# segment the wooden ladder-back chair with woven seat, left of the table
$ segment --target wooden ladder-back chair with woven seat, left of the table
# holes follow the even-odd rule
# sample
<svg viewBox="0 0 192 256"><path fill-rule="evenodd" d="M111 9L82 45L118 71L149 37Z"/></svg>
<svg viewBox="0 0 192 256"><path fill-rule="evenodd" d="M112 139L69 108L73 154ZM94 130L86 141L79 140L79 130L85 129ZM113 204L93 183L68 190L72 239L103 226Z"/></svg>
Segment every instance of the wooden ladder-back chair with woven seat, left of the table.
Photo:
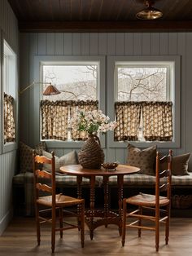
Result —
<svg viewBox="0 0 192 256"><path fill-rule="evenodd" d="M55 190L55 155L51 152L51 159L44 156L36 156L33 152L33 174L34 174L34 199L37 223L37 244L40 245L40 224L51 224L51 249L55 252L55 232L60 232L63 237L63 230L78 228L81 230L81 247L84 247L84 226L85 226L85 201L63 194L56 194ZM39 170L40 165L50 165L51 173L46 170ZM41 192L48 194L42 196ZM77 206L77 212L65 210L66 207ZM50 211L50 214L49 214ZM57 224L57 212L59 211L59 225ZM76 223L63 221L63 213L76 216ZM64 225L63 225L64 224ZM59 226L59 227L58 227Z"/></svg>

